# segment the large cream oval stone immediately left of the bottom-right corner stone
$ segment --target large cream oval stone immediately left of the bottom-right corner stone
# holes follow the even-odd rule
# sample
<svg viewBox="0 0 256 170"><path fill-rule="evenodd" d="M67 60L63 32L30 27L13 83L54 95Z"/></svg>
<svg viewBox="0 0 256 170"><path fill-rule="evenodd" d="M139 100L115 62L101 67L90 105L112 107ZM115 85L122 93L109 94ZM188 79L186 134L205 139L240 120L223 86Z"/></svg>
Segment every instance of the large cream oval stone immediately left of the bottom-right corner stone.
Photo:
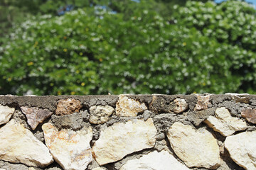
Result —
<svg viewBox="0 0 256 170"><path fill-rule="evenodd" d="M208 130L174 123L167 133L171 148L188 167L216 169L220 165L217 140Z"/></svg>

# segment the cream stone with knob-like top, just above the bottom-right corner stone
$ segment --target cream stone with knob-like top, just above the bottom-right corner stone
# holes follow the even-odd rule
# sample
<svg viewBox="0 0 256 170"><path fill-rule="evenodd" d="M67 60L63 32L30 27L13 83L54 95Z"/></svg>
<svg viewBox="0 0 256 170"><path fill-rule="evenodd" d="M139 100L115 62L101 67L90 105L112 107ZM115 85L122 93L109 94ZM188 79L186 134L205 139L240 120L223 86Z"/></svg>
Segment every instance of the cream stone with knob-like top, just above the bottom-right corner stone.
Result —
<svg viewBox="0 0 256 170"><path fill-rule="evenodd" d="M215 117L210 115L205 120L205 123L213 130L220 132L223 136L230 136L235 131L245 130L247 125L244 121L234 118L230 115L228 109L222 107L217 108L215 111Z"/></svg>

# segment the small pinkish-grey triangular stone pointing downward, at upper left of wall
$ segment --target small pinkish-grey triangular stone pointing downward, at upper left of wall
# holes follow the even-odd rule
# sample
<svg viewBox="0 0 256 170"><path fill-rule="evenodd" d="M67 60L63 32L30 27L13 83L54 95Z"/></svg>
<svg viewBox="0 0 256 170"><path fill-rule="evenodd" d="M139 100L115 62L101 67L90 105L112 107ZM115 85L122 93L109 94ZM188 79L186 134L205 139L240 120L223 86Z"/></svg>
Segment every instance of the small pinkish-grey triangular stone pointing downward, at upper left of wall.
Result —
<svg viewBox="0 0 256 170"><path fill-rule="evenodd" d="M21 111L26 115L28 125L30 125L33 130L36 129L39 123L42 123L43 120L46 120L46 118L49 118L50 115L53 114L53 112L48 111L47 109L36 107L29 108L22 106Z"/></svg>

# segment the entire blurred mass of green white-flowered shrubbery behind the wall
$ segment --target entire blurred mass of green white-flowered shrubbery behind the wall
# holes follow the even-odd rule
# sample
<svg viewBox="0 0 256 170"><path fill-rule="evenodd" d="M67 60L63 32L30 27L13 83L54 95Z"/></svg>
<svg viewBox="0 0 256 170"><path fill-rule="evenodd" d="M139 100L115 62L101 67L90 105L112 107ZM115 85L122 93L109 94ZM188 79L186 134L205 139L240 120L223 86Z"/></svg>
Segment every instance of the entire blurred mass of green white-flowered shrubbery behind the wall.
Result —
<svg viewBox="0 0 256 170"><path fill-rule="evenodd" d="M0 94L256 94L245 1L0 0Z"/></svg>

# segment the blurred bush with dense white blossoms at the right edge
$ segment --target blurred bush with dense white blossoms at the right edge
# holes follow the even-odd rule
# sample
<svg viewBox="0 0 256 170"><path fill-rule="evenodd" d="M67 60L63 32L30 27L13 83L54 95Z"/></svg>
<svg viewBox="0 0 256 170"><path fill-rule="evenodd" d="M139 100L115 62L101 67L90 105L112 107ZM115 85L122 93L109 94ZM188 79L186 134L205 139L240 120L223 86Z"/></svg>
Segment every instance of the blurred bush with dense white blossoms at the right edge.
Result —
<svg viewBox="0 0 256 170"><path fill-rule="evenodd" d="M241 1L226 1L220 5L190 1L178 9L174 18L178 25L196 28L203 36L220 44L215 50L228 62L226 67L230 72L230 82L225 88L233 84L236 86L233 91L255 93L255 8ZM221 58L213 55L218 60Z"/></svg>

